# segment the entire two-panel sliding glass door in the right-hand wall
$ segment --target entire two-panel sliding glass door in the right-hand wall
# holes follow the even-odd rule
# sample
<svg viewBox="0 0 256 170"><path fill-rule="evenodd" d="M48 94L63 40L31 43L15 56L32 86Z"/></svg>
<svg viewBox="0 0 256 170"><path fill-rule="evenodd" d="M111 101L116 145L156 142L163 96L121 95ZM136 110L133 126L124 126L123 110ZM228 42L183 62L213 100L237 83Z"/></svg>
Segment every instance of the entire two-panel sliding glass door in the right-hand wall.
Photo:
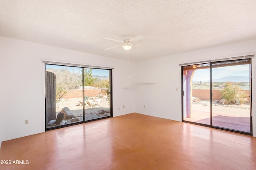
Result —
<svg viewBox="0 0 256 170"><path fill-rule="evenodd" d="M252 134L250 59L182 67L182 121Z"/></svg>

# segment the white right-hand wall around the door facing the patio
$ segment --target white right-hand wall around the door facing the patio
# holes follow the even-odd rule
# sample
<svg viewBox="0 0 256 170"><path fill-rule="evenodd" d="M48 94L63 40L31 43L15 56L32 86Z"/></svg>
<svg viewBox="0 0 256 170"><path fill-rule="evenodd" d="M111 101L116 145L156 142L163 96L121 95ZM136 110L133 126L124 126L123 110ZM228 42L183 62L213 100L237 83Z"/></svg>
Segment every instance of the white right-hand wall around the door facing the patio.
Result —
<svg viewBox="0 0 256 170"><path fill-rule="evenodd" d="M256 39L135 63L135 82L154 82L135 88L135 111L181 121L181 68L179 64L256 53ZM252 101L256 101L256 62L252 59ZM178 91L176 91L178 88ZM255 103L255 102L254 102ZM144 108L143 106L146 105ZM252 105L256 137L256 106Z"/></svg>

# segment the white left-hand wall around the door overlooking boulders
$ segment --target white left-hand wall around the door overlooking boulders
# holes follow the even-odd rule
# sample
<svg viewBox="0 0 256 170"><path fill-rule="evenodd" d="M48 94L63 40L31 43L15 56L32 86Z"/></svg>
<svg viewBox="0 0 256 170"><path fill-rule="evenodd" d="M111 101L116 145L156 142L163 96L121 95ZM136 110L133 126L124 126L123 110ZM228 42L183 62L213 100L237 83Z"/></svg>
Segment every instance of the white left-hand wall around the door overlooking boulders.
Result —
<svg viewBox="0 0 256 170"><path fill-rule="evenodd" d="M134 92L123 89L130 78L125 61L0 36L0 139L44 132L44 64L42 59L113 66L113 115L134 112ZM122 108L125 105L125 108ZM120 110L118 110L120 107ZM29 124L25 125L25 119ZM2 129L1 127L1 129Z"/></svg>

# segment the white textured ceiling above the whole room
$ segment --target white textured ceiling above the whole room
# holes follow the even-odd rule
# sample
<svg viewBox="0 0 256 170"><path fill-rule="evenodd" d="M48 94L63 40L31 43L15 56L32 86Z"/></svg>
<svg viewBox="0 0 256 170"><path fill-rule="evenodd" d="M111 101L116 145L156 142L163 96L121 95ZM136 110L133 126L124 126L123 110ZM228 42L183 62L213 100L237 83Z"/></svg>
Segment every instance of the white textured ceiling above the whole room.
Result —
<svg viewBox="0 0 256 170"><path fill-rule="evenodd" d="M256 0L0 0L0 35L130 61L256 38Z"/></svg>

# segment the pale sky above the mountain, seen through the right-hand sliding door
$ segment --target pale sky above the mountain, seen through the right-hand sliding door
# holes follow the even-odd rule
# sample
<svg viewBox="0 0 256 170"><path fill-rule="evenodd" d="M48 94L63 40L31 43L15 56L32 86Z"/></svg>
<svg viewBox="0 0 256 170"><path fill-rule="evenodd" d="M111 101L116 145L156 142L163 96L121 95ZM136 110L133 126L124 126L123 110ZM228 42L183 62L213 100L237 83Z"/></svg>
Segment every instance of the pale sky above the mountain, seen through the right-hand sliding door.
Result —
<svg viewBox="0 0 256 170"><path fill-rule="evenodd" d="M250 76L249 64L212 68L212 79L218 79L226 76ZM210 80L210 69L196 70L193 80Z"/></svg>

